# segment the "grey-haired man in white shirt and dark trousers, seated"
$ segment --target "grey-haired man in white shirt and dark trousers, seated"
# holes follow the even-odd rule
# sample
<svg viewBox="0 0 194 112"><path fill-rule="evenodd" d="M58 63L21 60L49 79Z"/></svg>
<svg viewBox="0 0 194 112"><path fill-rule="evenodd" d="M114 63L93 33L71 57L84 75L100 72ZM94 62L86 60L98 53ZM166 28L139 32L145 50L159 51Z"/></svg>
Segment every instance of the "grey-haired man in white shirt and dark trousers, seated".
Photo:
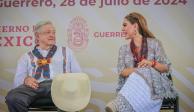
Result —
<svg viewBox="0 0 194 112"><path fill-rule="evenodd" d="M18 61L14 89L6 96L10 112L27 112L34 100L50 97L56 74L81 72L72 51L55 45L55 28L50 21L39 22L34 32L36 45Z"/></svg>

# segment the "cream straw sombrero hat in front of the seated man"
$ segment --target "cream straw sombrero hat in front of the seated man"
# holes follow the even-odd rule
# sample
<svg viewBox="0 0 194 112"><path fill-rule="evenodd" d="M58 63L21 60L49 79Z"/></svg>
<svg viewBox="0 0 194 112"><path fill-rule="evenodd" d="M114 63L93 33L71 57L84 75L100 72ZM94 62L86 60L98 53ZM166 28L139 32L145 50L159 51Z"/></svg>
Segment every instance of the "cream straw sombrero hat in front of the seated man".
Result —
<svg viewBox="0 0 194 112"><path fill-rule="evenodd" d="M57 74L51 85L54 104L63 111L79 111L90 100L91 85L84 73Z"/></svg>

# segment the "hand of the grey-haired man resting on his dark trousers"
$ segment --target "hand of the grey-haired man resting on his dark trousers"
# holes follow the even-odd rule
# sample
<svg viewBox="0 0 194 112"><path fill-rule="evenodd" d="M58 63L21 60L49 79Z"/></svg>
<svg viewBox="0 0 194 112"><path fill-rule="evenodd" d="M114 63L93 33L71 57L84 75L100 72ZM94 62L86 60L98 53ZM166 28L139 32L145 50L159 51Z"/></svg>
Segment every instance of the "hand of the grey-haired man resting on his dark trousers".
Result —
<svg viewBox="0 0 194 112"><path fill-rule="evenodd" d="M24 79L24 85L26 85L28 87L31 87L33 89L37 89L39 87L38 81L35 78L31 77L31 76L27 76Z"/></svg>

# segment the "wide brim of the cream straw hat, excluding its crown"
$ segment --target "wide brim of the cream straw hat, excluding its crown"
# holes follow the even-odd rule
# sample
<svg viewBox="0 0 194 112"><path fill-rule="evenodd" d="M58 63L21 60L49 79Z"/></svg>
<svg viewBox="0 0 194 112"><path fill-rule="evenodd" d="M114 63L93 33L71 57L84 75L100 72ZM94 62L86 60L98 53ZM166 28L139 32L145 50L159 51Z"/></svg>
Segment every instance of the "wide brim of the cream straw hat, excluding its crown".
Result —
<svg viewBox="0 0 194 112"><path fill-rule="evenodd" d="M80 91L83 94L80 94L76 97L68 97L68 95L63 93L62 89L64 88L61 88L65 80L72 80L72 83L74 81L82 80L80 83ZM81 87L81 85L84 87ZM54 104L63 111L82 110L88 105L91 96L91 85L89 77L84 73L57 74L51 85L51 96Z"/></svg>

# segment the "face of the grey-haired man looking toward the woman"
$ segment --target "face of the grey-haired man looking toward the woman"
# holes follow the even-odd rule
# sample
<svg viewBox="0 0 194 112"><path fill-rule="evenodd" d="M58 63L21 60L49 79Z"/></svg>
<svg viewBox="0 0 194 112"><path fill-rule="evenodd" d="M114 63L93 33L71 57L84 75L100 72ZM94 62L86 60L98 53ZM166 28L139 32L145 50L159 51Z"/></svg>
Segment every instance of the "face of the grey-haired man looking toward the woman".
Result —
<svg viewBox="0 0 194 112"><path fill-rule="evenodd" d="M40 46L54 45L55 40L55 28L51 24L43 25L40 31L36 34L36 39Z"/></svg>

